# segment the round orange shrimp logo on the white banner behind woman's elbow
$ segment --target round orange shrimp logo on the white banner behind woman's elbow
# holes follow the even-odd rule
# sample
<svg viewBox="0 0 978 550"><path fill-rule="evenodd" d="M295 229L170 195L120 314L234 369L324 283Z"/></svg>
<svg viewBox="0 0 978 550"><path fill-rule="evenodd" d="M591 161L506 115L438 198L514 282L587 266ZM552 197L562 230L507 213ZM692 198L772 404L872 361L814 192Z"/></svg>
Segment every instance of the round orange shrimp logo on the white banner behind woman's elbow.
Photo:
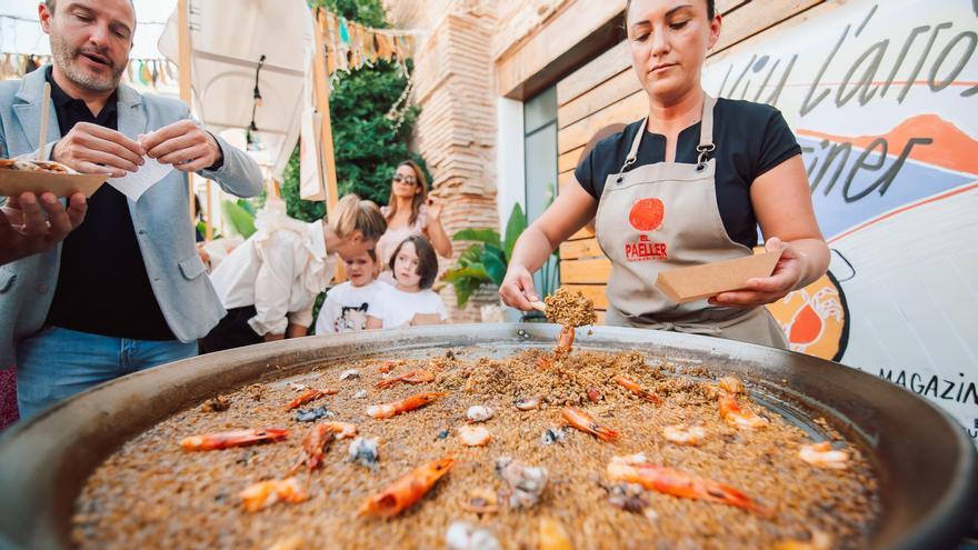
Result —
<svg viewBox="0 0 978 550"><path fill-rule="evenodd" d="M849 342L849 307L831 271L768 304L791 351L838 361Z"/></svg>

